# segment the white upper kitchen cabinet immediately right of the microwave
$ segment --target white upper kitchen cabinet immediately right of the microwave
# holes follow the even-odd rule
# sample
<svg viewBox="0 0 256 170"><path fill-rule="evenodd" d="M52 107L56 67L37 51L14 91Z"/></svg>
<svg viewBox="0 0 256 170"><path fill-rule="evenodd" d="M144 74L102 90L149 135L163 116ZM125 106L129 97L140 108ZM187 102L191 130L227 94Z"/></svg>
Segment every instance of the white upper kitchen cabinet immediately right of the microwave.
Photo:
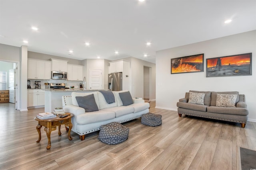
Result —
<svg viewBox="0 0 256 170"><path fill-rule="evenodd" d="M83 66L68 64L68 80L83 81Z"/></svg>

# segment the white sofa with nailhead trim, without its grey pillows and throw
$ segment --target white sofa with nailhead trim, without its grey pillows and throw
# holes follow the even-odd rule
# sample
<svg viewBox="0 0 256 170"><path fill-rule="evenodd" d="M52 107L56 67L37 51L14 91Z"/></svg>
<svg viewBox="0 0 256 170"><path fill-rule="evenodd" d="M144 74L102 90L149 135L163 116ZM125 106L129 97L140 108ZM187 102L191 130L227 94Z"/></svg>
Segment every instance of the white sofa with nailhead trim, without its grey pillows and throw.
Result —
<svg viewBox="0 0 256 170"><path fill-rule="evenodd" d="M145 103L142 99L133 98L133 104L123 106L119 96L120 92L128 92L128 90L113 92L115 102L112 104L106 102L101 92L72 92L71 96L62 96L64 111L74 114L71 119L73 124L71 130L80 135L81 141L84 140L86 134L100 130L101 125L106 125L110 122L123 123L149 112L149 103ZM85 112L84 108L78 106L76 96L87 96L90 94L94 94L98 111Z"/></svg>

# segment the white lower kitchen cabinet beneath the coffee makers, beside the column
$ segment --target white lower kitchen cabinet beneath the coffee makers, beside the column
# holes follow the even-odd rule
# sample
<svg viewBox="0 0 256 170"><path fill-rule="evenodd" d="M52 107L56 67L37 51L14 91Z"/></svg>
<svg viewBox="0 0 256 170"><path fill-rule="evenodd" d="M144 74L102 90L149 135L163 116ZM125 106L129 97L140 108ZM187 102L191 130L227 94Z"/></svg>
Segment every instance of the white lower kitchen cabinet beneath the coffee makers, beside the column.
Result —
<svg viewBox="0 0 256 170"><path fill-rule="evenodd" d="M28 90L28 107L44 106L44 90Z"/></svg>

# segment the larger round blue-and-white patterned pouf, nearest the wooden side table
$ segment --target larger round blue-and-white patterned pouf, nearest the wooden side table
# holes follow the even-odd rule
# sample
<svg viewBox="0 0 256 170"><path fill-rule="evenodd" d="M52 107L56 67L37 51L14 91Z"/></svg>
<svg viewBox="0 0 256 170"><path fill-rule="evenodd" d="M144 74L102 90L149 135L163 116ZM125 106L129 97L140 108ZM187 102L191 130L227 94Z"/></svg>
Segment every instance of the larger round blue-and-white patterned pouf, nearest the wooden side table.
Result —
<svg viewBox="0 0 256 170"><path fill-rule="evenodd" d="M103 143L115 145L128 138L129 128L118 122L111 122L100 127L98 139Z"/></svg>

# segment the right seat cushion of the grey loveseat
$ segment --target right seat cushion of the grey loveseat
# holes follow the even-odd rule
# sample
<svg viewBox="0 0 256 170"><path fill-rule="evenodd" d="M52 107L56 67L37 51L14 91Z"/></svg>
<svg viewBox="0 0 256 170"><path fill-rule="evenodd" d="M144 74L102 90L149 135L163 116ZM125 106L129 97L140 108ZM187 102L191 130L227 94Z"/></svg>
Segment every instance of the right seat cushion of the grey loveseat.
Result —
<svg viewBox="0 0 256 170"><path fill-rule="evenodd" d="M221 113L221 114L232 114L232 115L248 115L248 110L242 107L207 107L207 112Z"/></svg>

